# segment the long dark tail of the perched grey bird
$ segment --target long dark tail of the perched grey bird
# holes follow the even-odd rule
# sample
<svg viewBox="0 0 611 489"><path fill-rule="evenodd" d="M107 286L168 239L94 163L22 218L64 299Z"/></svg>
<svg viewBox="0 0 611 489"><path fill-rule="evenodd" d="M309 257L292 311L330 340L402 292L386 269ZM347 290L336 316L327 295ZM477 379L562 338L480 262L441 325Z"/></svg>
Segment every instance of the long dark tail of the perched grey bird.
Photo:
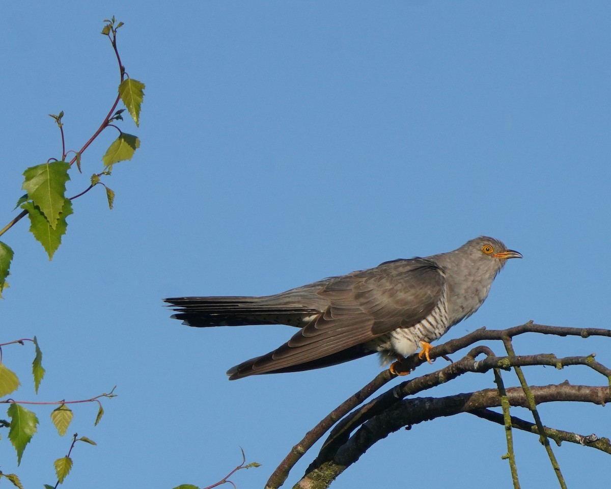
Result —
<svg viewBox="0 0 611 489"><path fill-rule="evenodd" d="M164 299L174 309L172 318L188 326L290 325L320 314L297 304L277 304L270 297L172 297ZM271 303L272 302L272 303Z"/></svg>

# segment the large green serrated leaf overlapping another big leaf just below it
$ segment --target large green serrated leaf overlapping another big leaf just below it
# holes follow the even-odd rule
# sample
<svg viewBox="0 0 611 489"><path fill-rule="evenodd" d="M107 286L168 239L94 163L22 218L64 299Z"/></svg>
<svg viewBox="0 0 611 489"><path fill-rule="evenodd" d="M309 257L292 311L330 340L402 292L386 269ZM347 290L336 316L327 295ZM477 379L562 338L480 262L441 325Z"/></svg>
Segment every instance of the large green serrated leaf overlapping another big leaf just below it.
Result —
<svg viewBox="0 0 611 489"><path fill-rule="evenodd" d="M69 169L70 164L65 161L54 161L29 167L23 172L26 180L22 188L43 213L51 229L56 228L66 202L64 194L66 182L70 180Z"/></svg>

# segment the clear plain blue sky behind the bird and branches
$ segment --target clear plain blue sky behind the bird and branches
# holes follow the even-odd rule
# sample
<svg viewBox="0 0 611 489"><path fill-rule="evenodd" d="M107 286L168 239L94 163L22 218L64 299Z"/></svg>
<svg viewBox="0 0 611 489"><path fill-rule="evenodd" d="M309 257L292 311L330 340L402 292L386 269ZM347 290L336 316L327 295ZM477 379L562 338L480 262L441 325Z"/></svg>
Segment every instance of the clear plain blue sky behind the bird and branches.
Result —
<svg viewBox="0 0 611 489"><path fill-rule="evenodd" d="M75 449L65 487L205 486L239 463L240 446L263 466L234 482L262 487L307 430L379 372L371 356L229 382L225 370L293 331L187 328L169 319L167 296L265 295L485 234L524 260L508 263L480 311L445 338L530 319L609 327L608 2L35 1L27 15L23 4L3 12L5 222L24 168L60 151L47 114L65 112L76 149L114 100L104 18L125 22L123 62L147 86L141 126L122 125L142 145L108 180L114 210L103 189L75 200L50 263L26 221L2 237L15 259L1 340L36 335L47 369L35 396L33 352L3 348L23 377L14 397L85 399L117 384L98 427L95 406L75 408L69 433L98 446ZM69 194L100 171L114 138L84 153ZM595 351L611 364L608 339L529 336L516 348ZM604 381L584 367L525 373L533 384ZM490 386L492 375L465 376L436 395ZM48 411L37 410L20 468L0 443L2 471L26 487L54 483L53 460L70 444ZM546 405L541 416L611 434L600 406ZM515 438L522 484L554 487L536 437ZM602 452L555 452L569 487L584 472L592 485L611 477ZM504 453L502 428L464 414L389 436L333 487L469 487L473 474L511 487Z"/></svg>

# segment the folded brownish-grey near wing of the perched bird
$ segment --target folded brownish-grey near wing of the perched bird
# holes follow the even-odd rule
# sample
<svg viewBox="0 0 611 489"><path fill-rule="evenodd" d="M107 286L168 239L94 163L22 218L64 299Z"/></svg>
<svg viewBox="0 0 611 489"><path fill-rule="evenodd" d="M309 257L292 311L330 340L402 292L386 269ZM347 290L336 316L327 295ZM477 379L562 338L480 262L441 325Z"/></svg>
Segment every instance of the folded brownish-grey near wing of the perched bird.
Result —
<svg viewBox="0 0 611 489"><path fill-rule="evenodd" d="M444 273L426 259L397 260L338 277L318 290L329 306L287 343L243 362L232 378L284 370L329 357L337 363L345 350L359 350L371 339L422 321L441 300ZM352 356L354 357L354 355ZM351 358L342 358L346 361ZM324 366L324 360L316 362ZM295 370L299 370L295 368Z"/></svg>

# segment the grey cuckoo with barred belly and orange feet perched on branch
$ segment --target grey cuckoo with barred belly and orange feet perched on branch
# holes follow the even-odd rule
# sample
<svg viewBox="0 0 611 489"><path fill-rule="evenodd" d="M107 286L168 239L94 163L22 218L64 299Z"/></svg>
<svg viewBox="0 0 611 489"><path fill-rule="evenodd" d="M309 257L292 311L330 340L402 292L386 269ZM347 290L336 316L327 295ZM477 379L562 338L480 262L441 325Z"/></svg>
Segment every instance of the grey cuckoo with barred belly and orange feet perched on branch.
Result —
<svg viewBox="0 0 611 489"><path fill-rule="evenodd" d="M197 328L288 325L288 342L227 371L229 380L318 369L379 353L397 362L472 315L508 259L522 258L502 241L480 236L428 257L397 259L268 296L174 297L172 318Z"/></svg>

